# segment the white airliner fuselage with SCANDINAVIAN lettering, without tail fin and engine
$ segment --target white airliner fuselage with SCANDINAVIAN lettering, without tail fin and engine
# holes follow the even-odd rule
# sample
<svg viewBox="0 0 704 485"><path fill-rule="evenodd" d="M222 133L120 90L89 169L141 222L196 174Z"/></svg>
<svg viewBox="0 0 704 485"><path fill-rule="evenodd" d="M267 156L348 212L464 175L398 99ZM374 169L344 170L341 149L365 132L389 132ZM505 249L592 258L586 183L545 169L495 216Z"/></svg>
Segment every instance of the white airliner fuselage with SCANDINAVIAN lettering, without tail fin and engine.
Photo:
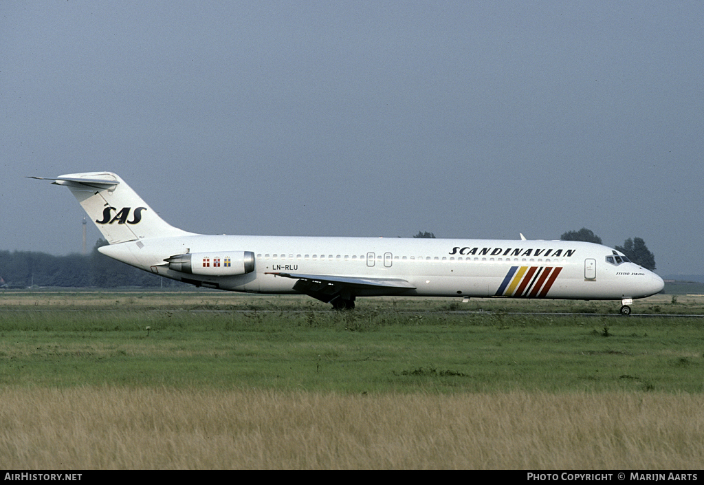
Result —
<svg viewBox="0 0 704 485"><path fill-rule="evenodd" d="M415 287L358 290L356 296L623 300L658 293L663 286L659 276L634 263L609 264L606 258L613 250L608 247L561 240L189 235L99 250L168 278L253 293L298 293L294 280L275 273L401 278ZM214 259L242 250L254 254L254 270L247 274L184 275L164 265L175 254L208 254Z"/></svg>

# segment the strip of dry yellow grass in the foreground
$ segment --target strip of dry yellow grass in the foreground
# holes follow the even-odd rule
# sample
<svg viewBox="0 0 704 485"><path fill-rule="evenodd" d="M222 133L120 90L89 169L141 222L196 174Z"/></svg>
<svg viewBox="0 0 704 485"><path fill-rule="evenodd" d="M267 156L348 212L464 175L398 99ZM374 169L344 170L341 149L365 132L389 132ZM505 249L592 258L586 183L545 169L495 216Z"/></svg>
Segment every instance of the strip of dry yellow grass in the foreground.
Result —
<svg viewBox="0 0 704 485"><path fill-rule="evenodd" d="M699 395L5 388L6 469L700 469Z"/></svg>

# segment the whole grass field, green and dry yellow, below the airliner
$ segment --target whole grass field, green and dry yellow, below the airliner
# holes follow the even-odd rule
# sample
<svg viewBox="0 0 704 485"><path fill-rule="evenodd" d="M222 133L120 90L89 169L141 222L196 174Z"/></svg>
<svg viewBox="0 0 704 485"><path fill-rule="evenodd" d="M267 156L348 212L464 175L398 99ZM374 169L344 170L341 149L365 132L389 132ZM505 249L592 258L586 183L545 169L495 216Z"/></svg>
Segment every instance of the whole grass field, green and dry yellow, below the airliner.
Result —
<svg viewBox="0 0 704 485"><path fill-rule="evenodd" d="M617 309L0 293L0 462L701 468L704 297Z"/></svg>

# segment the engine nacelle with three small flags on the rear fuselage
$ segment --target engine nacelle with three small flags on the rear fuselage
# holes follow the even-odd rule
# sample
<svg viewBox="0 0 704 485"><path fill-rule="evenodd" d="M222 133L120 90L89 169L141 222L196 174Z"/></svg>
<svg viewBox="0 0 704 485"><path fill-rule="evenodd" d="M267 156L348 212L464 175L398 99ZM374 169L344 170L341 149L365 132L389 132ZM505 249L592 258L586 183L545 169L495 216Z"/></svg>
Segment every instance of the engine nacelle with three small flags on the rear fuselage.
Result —
<svg viewBox="0 0 704 485"><path fill-rule="evenodd" d="M203 276L237 276L254 271L251 251L189 252L164 261L173 271Z"/></svg>

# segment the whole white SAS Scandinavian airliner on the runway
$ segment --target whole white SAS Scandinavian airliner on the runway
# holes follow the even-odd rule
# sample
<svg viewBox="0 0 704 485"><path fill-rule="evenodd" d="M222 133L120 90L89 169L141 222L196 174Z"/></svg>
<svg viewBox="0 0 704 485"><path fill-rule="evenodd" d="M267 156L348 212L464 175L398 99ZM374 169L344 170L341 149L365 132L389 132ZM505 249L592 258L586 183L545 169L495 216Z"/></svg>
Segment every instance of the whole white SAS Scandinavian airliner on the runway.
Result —
<svg viewBox="0 0 704 485"><path fill-rule="evenodd" d="M100 252L195 286L303 293L336 309L377 295L621 300L622 314L665 287L593 243L202 235L170 226L115 173L40 179L73 192L110 243Z"/></svg>

